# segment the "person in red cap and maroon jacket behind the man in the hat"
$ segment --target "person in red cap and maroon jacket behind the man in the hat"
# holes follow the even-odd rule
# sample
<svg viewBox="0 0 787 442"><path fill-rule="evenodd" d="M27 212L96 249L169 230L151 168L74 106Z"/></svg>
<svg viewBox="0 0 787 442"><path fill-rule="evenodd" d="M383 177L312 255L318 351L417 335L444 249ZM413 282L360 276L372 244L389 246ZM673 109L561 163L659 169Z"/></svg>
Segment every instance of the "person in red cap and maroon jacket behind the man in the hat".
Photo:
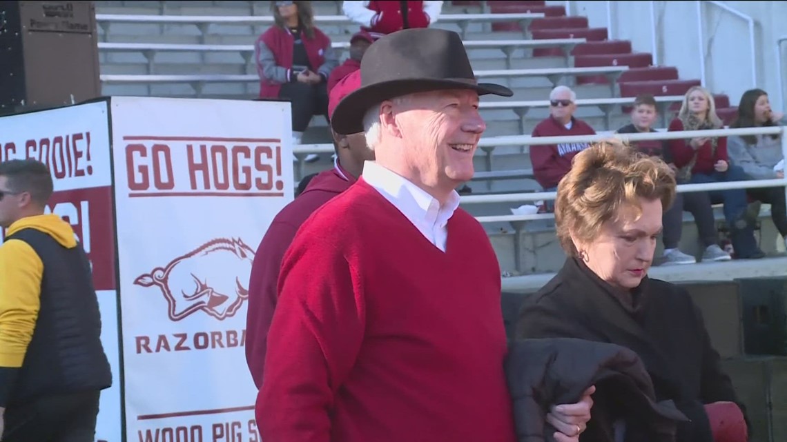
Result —
<svg viewBox="0 0 787 442"><path fill-rule="evenodd" d="M358 87L360 71L346 76L331 90L329 118L333 116L338 102ZM309 215L347 190L360 176L365 160L374 160L374 153L366 146L363 133L333 134L337 154L334 168L314 177L306 190L275 216L254 255L249 281L249 311L246 315L246 363L258 389L262 385L268 328L276 305L276 283L284 252Z"/></svg>

